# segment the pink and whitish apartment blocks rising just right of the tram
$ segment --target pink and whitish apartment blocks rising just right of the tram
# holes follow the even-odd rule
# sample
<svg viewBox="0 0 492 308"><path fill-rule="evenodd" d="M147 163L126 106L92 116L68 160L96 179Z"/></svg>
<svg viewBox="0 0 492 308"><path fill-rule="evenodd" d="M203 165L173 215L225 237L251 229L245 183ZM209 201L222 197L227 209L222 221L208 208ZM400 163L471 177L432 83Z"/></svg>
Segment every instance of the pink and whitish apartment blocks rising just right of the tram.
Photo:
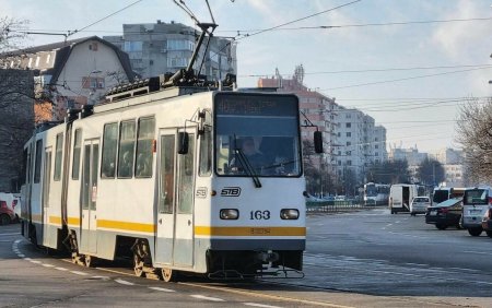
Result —
<svg viewBox="0 0 492 308"><path fill-rule="evenodd" d="M279 73L258 80L259 87L277 87L279 92L291 92L300 98L302 138L309 142L316 129L323 132L325 154L318 158L319 166L341 178L348 170L362 182L366 167L374 162L387 159L386 129L375 126L368 115L338 105L335 98L312 91L302 84L303 78L294 74L283 79ZM304 119L303 119L304 117Z"/></svg>

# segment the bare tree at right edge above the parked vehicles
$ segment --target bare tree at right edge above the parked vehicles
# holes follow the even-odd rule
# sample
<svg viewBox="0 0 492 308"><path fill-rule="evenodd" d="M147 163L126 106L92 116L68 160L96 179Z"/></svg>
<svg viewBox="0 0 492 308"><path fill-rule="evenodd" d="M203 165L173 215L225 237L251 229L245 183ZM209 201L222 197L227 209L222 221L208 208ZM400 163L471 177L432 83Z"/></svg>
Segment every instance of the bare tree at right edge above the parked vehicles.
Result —
<svg viewBox="0 0 492 308"><path fill-rule="evenodd" d="M492 98L469 98L460 109L456 131L468 185L492 182Z"/></svg>

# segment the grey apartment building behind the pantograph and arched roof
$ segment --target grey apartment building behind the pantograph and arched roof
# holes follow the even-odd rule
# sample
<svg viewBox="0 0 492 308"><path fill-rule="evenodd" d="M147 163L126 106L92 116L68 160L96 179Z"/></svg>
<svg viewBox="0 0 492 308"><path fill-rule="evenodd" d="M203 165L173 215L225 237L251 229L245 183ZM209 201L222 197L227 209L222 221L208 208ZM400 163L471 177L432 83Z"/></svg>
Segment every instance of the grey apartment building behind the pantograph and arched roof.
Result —
<svg viewBox="0 0 492 308"><path fill-rule="evenodd" d="M131 68L141 78L174 73L190 62L200 32L180 23L124 24L121 36L103 38L118 46L130 57ZM204 46L208 44L207 52ZM236 46L229 38L213 36L203 40L203 48L194 69L219 81L236 72Z"/></svg>

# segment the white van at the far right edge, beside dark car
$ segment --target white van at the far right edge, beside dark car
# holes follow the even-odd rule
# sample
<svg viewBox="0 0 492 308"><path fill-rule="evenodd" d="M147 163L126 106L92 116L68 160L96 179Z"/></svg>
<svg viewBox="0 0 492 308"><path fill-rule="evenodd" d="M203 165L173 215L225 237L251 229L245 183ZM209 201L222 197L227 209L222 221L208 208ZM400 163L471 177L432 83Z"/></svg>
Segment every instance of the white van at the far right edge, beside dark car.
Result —
<svg viewBox="0 0 492 308"><path fill-rule="evenodd" d="M482 217L492 205L492 189L490 187L467 188L462 198L464 228L471 236L482 234Z"/></svg>

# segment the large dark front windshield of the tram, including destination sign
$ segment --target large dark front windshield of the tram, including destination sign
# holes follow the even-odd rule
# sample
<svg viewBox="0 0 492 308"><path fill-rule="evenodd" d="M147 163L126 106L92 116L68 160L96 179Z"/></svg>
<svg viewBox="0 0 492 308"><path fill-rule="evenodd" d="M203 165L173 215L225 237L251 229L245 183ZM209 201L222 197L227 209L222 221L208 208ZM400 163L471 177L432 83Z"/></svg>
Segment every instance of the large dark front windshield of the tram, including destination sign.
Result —
<svg viewBox="0 0 492 308"><path fill-rule="evenodd" d="M298 177L297 98L218 94L214 141L215 171L220 176Z"/></svg>

